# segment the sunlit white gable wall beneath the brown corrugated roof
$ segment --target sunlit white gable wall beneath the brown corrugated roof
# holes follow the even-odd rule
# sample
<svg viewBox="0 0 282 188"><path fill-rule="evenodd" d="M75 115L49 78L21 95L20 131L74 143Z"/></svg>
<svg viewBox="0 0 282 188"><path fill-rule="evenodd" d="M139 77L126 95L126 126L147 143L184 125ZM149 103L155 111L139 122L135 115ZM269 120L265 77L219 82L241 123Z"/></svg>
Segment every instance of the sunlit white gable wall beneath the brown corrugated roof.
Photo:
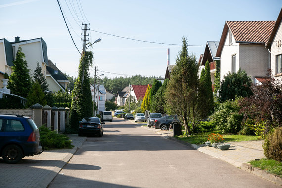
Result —
<svg viewBox="0 0 282 188"><path fill-rule="evenodd" d="M220 56L220 80L223 80L223 76L231 72L231 56L236 55L236 71L239 70L239 43L235 42L235 38L232 35L233 43L229 44L229 31L227 32L224 47Z"/></svg>

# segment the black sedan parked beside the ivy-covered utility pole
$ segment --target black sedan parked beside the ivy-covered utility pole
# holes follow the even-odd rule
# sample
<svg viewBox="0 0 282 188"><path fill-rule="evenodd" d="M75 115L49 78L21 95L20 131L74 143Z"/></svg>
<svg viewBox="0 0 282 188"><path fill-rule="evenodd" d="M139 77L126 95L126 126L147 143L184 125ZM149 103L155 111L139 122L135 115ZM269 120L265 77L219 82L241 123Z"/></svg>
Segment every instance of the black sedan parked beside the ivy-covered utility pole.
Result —
<svg viewBox="0 0 282 188"><path fill-rule="evenodd" d="M78 136L92 134L101 137L104 134L103 124L105 123L101 123L100 118L84 117L79 124Z"/></svg>

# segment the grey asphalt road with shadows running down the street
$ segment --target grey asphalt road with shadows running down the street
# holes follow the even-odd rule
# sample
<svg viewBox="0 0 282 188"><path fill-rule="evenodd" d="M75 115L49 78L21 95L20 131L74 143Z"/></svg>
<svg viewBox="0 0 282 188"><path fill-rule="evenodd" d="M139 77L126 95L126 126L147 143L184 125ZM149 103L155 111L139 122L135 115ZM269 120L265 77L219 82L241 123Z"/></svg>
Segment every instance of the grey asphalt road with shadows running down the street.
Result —
<svg viewBox="0 0 282 188"><path fill-rule="evenodd" d="M144 125L144 124L143 124ZM106 122L49 188L281 188L133 121Z"/></svg>

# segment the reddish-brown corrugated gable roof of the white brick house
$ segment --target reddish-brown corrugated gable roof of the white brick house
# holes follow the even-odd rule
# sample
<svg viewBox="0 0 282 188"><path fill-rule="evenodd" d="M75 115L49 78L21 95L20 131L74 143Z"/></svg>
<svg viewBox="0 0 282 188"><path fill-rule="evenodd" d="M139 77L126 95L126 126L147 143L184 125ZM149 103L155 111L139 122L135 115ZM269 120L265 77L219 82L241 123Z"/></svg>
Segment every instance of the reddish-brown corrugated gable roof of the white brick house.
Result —
<svg viewBox="0 0 282 188"><path fill-rule="evenodd" d="M266 44L274 25L275 21L226 21L216 57L220 57L228 30L231 31L236 43Z"/></svg>

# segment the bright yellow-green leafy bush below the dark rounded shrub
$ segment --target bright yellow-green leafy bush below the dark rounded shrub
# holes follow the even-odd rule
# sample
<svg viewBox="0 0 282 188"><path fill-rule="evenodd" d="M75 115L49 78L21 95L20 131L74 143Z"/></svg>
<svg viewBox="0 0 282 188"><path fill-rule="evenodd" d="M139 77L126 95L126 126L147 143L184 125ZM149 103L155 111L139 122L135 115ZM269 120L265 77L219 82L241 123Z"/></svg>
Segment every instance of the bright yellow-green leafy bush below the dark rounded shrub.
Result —
<svg viewBox="0 0 282 188"><path fill-rule="evenodd" d="M241 130L243 115L239 114L239 99L227 100L215 109L211 119L215 122L217 130L222 130L222 133L238 133Z"/></svg>

